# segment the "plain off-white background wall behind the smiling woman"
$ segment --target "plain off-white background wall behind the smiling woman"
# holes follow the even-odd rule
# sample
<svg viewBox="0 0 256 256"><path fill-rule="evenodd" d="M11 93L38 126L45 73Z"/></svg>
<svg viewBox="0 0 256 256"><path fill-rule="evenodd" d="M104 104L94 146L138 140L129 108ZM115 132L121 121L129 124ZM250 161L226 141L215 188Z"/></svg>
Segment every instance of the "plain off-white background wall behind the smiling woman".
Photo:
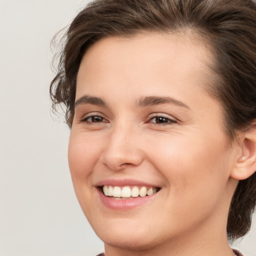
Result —
<svg viewBox="0 0 256 256"><path fill-rule="evenodd" d="M50 40L86 0L0 0L0 256L92 256L103 243L75 198L69 128L50 116ZM256 218L234 244L256 256Z"/></svg>

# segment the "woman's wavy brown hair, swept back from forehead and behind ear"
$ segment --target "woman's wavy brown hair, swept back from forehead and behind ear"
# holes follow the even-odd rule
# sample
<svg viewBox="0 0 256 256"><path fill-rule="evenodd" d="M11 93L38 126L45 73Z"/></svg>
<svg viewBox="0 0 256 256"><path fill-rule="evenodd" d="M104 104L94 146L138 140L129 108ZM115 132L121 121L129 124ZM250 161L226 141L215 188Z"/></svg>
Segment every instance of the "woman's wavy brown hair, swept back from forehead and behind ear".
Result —
<svg viewBox="0 0 256 256"><path fill-rule="evenodd" d="M53 109L66 107L71 127L76 76L81 58L93 42L106 36L132 36L142 31L192 29L214 52L216 82L209 88L222 104L225 129L236 131L256 119L256 4L253 0L95 0L71 22L50 84ZM227 232L245 235L256 204L256 173L241 180L233 195Z"/></svg>

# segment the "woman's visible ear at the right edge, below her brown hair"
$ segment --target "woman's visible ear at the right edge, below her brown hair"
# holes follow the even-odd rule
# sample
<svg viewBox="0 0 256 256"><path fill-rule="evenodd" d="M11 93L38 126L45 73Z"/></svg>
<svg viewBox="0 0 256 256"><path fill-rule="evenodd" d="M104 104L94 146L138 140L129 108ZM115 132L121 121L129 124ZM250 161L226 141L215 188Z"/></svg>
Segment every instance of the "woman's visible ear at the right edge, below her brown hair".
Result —
<svg viewBox="0 0 256 256"><path fill-rule="evenodd" d="M239 153L230 176L241 180L256 171L256 121L245 132L239 134Z"/></svg>

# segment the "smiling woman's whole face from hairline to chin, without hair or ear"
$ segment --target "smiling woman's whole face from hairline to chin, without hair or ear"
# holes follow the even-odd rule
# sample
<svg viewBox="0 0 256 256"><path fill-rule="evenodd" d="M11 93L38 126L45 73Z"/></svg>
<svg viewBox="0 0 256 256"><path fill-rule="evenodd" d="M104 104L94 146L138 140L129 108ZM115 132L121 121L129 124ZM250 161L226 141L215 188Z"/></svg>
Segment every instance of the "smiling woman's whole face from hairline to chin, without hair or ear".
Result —
<svg viewBox="0 0 256 256"><path fill-rule="evenodd" d="M149 248L225 233L234 153L204 89L208 64L204 45L184 34L108 37L83 56L68 160L105 243Z"/></svg>

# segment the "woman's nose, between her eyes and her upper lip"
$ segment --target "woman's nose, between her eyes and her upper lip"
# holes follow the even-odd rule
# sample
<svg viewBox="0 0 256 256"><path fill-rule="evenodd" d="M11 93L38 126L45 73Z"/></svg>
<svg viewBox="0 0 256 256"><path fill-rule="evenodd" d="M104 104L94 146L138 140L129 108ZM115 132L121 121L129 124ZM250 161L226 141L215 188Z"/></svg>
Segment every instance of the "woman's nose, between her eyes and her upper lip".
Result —
<svg viewBox="0 0 256 256"><path fill-rule="evenodd" d="M114 127L109 131L101 162L112 170L138 166L143 161L138 137L139 134L131 127Z"/></svg>

